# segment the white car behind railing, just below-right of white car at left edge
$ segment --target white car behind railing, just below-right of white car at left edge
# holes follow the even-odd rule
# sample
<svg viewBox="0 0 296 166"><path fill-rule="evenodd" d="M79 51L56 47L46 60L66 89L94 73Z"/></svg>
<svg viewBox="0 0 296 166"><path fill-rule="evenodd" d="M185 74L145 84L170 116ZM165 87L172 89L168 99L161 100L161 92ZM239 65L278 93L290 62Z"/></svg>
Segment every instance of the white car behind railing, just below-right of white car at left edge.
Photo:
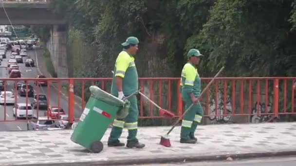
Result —
<svg viewBox="0 0 296 166"><path fill-rule="evenodd" d="M26 103L18 103L16 107L13 107L13 116L17 116L18 118L26 118L27 115L27 109L28 109L28 119L32 118L33 115L33 108L31 107L31 104L28 103L26 106Z"/></svg>

